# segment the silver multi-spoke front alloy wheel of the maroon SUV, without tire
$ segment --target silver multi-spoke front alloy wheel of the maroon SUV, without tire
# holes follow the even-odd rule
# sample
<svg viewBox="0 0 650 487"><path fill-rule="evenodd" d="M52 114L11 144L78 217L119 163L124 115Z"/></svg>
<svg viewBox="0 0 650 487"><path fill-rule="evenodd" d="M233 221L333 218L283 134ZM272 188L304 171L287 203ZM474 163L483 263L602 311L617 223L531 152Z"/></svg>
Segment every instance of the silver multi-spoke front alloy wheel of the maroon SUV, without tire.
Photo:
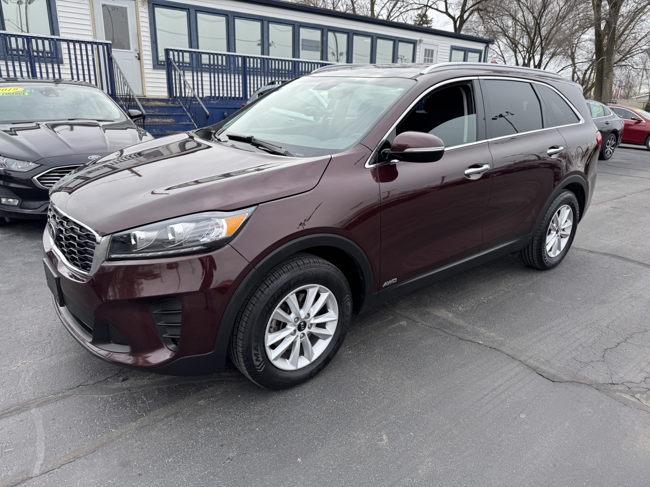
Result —
<svg viewBox="0 0 650 487"><path fill-rule="evenodd" d="M301 286L271 314L264 336L266 356L279 369L302 369L325 351L338 323L334 294L320 284Z"/></svg>

